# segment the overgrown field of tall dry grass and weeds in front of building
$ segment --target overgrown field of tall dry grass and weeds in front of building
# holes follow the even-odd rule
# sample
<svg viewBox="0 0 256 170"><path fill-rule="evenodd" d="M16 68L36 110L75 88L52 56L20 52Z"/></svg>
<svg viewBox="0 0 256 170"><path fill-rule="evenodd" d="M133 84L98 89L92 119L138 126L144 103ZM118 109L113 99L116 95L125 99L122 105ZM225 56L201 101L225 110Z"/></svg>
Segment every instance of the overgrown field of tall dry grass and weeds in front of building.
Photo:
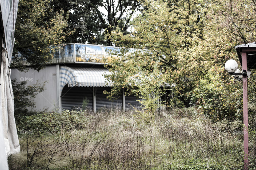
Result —
<svg viewBox="0 0 256 170"><path fill-rule="evenodd" d="M41 115L18 127L21 152L9 156L10 169L243 169L239 121L211 123L192 108L150 116L134 110L47 114L54 121Z"/></svg>

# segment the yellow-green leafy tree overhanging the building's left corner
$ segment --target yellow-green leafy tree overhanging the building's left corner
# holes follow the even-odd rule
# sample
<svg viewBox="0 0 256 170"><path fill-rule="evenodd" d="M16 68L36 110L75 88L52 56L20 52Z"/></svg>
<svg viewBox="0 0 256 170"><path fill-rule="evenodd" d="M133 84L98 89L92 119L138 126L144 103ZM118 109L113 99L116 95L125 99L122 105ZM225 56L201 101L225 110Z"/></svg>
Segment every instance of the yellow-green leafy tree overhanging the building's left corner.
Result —
<svg viewBox="0 0 256 170"><path fill-rule="evenodd" d="M50 0L19 1L12 67L23 70L26 60L39 71L53 57L48 46L61 44L70 34L63 32L67 26L63 11L53 11L50 4Z"/></svg>

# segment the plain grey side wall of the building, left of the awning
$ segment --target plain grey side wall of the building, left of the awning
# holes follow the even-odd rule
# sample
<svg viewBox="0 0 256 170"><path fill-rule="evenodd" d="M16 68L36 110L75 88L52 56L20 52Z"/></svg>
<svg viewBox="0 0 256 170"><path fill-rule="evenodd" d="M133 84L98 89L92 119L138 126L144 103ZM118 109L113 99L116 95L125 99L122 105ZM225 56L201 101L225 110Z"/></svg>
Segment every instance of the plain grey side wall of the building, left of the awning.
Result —
<svg viewBox="0 0 256 170"><path fill-rule="evenodd" d="M27 81L27 85L45 83L45 91L39 93L34 101L36 103L33 110L54 110L59 108L59 65L50 65L37 72L30 67L29 71L21 72L15 68L11 69L11 79L16 81ZM15 103L14 103L15 105Z"/></svg>

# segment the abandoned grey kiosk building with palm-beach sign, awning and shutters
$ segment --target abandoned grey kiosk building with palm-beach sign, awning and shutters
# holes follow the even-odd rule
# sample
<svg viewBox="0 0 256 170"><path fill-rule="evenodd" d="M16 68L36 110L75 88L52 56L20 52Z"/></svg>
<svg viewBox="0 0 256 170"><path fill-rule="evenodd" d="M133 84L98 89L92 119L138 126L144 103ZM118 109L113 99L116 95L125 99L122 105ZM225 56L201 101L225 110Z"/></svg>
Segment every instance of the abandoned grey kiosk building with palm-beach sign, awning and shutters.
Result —
<svg viewBox="0 0 256 170"><path fill-rule="evenodd" d="M104 77L109 71L103 63L117 57L110 56L108 50L118 48L78 43L61 45L46 68L37 72L24 62L28 71L12 68L11 79L27 81L27 85L45 84L45 90L34 98L37 111L89 108L96 112L109 107L139 108L135 96L120 93L110 101L103 93L111 90L111 82L107 83Z"/></svg>

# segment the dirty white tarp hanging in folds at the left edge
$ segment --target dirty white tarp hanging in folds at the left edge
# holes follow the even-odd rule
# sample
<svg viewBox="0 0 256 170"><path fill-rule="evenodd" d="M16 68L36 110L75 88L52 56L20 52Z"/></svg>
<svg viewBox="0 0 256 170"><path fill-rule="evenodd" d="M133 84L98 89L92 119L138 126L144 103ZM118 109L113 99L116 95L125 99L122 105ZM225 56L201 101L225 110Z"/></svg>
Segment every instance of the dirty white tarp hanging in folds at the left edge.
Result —
<svg viewBox="0 0 256 170"><path fill-rule="evenodd" d="M0 169L8 169L7 156L19 152L19 140L14 119L13 90L11 86L11 69L7 50L2 45L2 63L0 74ZM3 150L5 151L3 153ZM7 168L6 168L7 167Z"/></svg>

